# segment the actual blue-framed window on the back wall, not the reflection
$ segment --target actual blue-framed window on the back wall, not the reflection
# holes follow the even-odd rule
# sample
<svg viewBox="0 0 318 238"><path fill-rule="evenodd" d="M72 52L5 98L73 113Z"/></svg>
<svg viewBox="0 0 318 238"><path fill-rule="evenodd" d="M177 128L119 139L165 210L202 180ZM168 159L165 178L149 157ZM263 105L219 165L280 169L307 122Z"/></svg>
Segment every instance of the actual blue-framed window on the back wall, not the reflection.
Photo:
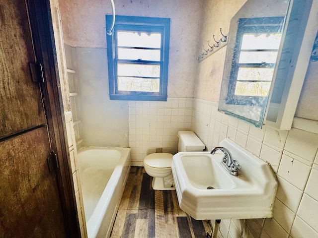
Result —
<svg viewBox="0 0 318 238"><path fill-rule="evenodd" d="M112 15L106 15L106 29ZM116 16L107 35L109 97L166 101L170 19Z"/></svg>

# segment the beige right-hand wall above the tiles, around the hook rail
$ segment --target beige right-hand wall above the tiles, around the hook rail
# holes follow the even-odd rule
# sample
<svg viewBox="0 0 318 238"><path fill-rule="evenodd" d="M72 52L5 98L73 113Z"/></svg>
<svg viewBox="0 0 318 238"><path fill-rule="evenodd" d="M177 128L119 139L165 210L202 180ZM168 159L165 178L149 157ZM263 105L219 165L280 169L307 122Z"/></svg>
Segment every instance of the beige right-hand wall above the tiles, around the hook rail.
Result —
<svg viewBox="0 0 318 238"><path fill-rule="evenodd" d="M214 43L213 35L217 41L222 37L220 28L223 34L229 33L231 18L246 0L204 0L203 2L202 31L197 44L201 52L203 52L203 45L205 49L208 48L208 41L210 45ZM224 47L209 58L196 63L198 76L193 92L195 98L219 102L226 49L227 47Z"/></svg>

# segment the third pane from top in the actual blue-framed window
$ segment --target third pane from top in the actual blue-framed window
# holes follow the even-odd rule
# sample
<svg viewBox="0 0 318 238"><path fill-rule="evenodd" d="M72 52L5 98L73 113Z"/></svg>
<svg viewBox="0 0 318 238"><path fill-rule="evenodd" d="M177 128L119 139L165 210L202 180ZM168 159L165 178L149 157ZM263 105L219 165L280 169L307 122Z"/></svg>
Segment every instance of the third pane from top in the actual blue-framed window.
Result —
<svg viewBox="0 0 318 238"><path fill-rule="evenodd" d="M118 63L118 76L160 77L160 64Z"/></svg>

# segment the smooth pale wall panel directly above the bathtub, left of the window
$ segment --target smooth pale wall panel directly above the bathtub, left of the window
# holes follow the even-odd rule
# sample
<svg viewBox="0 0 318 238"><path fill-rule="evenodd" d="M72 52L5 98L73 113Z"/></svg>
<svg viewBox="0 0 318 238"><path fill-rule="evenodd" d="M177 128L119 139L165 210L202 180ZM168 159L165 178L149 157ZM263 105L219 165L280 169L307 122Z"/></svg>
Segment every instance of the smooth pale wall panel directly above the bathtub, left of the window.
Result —
<svg viewBox="0 0 318 238"><path fill-rule="evenodd" d="M128 101L109 100L106 49L75 49L84 146L129 147Z"/></svg>

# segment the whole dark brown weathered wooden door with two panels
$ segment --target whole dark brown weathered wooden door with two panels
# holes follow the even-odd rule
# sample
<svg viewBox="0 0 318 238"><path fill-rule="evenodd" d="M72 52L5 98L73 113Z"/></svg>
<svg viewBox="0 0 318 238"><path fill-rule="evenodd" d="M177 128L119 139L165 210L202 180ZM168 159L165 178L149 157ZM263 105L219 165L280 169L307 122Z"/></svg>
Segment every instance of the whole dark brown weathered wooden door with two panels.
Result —
<svg viewBox="0 0 318 238"><path fill-rule="evenodd" d="M0 237L66 237L25 0L0 0Z"/></svg>

